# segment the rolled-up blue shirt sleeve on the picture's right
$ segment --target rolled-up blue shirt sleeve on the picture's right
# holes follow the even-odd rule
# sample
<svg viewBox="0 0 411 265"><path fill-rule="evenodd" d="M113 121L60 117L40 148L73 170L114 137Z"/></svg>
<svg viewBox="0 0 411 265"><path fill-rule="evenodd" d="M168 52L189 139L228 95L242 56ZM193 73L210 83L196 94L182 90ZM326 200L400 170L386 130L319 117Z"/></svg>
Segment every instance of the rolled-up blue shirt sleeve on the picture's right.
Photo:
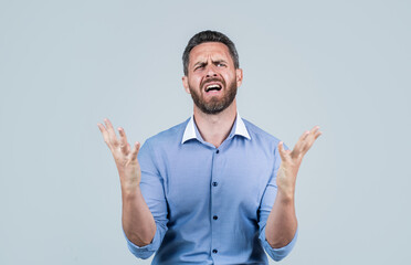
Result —
<svg viewBox="0 0 411 265"><path fill-rule="evenodd" d="M284 145L284 148L285 150L288 150L288 147L286 145ZM270 212L274 205L275 197L277 194L276 176L277 176L277 171L278 171L280 163L281 163L281 157L280 157L277 148L275 148L274 157L275 158L274 158L273 174L265 188L265 191L264 191L261 204L260 204L260 209L259 209L259 215L260 215L260 222L259 222L260 237L259 239L261 243L263 244L265 252L270 255L270 257L276 262L280 262L284 257L286 257L289 254L289 252L293 250L295 242L297 241L298 227L297 227L297 231L295 232L293 240L283 247L273 248L271 247L271 245L265 239L266 221L268 219Z"/></svg>

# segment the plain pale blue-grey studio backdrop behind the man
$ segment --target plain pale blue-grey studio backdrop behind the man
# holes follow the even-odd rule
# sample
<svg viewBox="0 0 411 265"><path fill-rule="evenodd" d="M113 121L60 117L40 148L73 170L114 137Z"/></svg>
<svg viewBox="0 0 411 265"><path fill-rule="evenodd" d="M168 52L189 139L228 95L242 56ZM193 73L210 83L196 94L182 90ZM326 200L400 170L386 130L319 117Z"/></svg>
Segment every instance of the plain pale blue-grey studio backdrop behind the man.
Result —
<svg viewBox="0 0 411 265"><path fill-rule="evenodd" d="M0 1L0 264L149 264L127 250L117 169L129 141L186 120L181 54L202 30L240 53L241 116L291 148L299 236L281 264L405 264L409 1ZM270 262L274 264L274 262Z"/></svg>

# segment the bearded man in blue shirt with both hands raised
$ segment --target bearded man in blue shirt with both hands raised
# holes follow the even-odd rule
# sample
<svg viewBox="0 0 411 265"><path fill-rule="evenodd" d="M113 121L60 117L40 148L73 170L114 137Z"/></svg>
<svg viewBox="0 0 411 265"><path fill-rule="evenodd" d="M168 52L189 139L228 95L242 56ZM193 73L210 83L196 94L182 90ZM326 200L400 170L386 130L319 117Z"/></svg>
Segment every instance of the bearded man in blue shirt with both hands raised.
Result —
<svg viewBox="0 0 411 265"><path fill-rule="evenodd" d="M98 124L117 165L123 229L130 252L152 264L267 264L297 235L295 181L322 134L305 131L288 150L242 119L243 80L234 44L220 32L196 34L183 53L182 84L193 115L131 148L123 128ZM138 160L137 160L138 155Z"/></svg>

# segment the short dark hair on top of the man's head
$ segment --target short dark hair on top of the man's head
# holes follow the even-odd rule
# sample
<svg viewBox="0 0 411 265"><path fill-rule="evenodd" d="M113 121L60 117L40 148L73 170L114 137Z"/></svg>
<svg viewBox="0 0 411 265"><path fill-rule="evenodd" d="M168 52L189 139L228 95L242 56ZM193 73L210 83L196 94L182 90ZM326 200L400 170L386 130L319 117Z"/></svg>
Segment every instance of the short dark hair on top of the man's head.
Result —
<svg viewBox="0 0 411 265"><path fill-rule="evenodd" d="M185 75L188 74L188 65L189 65L191 50L194 46L200 45L201 43L204 43L204 42L221 42L222 44L225 44L234 62L234 67L235 68L240 67L239 54L236 53L234 43L221 32L207 30L207 31L201 31L197 33L196 35L193 35L188 42L185 49L185 52L182 53L182 66L183 66Z"/></svg>

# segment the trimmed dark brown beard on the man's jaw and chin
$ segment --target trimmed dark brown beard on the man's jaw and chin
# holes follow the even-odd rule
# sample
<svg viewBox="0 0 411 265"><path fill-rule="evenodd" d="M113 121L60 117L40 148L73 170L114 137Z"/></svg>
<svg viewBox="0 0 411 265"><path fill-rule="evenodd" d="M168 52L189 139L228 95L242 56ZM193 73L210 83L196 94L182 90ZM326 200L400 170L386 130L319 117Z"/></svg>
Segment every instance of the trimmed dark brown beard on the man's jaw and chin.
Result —
<svg viewBox="0 0 411 265"><path fill-rule="evenodd" d="M231 103L234 100L235 95L236 95L236 88L238 88L236 82L234 80L228 86L224 86L226 88L226 92L222 98L218 98L217 96L213 96L210 98L209 102L205 102L204 97L201 96L201 93L204 89L202 89L202 86L200 87L201 87L201 92L197 92L196 89L191 88L191 85L189 85L192 100L194 102L196 106L200 108L201 112L203 112L204 114L219 114L225 108L228 108L231 105Z"/></svg>

